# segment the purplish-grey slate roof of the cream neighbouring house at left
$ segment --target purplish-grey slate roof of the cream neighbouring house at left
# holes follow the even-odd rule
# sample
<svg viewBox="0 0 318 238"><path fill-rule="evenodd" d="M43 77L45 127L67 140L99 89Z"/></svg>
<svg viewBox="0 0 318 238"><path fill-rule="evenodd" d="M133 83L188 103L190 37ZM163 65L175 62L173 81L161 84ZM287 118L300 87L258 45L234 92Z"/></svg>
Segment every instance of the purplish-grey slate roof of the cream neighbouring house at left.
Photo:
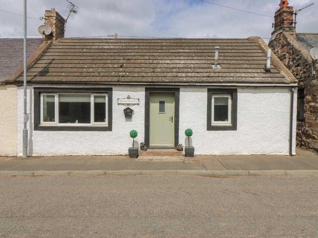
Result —
<svg viewBox="0 0 318 238"><path fill-rule="evenodd" d="M27 38L27 57L42 44L43 38ZM23 64L23 38L0 38L0 82Z"/></svg>

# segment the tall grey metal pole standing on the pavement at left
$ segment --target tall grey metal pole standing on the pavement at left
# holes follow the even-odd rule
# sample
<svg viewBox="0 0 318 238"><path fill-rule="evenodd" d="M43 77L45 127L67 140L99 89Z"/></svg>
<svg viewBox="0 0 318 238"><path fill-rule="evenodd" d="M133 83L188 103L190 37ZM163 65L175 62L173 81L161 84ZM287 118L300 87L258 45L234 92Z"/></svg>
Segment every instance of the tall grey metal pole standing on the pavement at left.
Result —
<svg viewBox="0 0 318 238"><path fill-rule="evenodd" d="M28 129L26 128L27 114L26 114L26 0L23 3L24 20L23 20L23 86L24 86L24 111L23 111L23 151L22 157L28 157Z"/></svg>

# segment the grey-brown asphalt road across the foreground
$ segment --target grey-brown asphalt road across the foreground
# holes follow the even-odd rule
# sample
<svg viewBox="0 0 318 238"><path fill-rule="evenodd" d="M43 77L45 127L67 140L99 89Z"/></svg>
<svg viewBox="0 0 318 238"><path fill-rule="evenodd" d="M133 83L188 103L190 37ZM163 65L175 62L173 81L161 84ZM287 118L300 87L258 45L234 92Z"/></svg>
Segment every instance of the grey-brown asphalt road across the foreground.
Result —
<svg viewBox="0 0 318 238"><path fill-rule="evenodd" d="M0 237L318 237L317 176L0 177Z"/></svg>

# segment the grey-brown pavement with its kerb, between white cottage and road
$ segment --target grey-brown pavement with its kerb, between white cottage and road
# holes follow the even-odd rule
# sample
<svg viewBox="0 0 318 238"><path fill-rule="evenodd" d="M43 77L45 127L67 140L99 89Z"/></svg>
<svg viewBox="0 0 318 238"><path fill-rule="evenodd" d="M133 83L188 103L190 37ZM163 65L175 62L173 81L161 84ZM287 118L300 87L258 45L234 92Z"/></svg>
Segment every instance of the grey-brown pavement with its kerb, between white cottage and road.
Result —
<svg viewBox="0 0 318 238"><path fill-rule="evenodd" d="M318 175L318 155L198 155L131 159L128 156L0 157L0 176L12 175ZM154 159L155 158L155 159ZM162 158L162 159L160 159Z"/></svg>

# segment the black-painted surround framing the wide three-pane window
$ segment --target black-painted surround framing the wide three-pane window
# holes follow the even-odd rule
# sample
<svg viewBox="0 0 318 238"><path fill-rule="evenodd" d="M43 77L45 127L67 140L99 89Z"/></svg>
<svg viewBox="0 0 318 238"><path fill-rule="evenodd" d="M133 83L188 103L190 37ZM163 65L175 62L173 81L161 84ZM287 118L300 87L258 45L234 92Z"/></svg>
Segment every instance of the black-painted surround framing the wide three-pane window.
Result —
<svg viewBox="0 0 318 238"><path fill-rule="evenodd" d="M41 93L107 93L107 126L59 126L41 125ZM40 131L112 131L113 128L113 89L112 88L34 88L34 130Z"/></svg>

